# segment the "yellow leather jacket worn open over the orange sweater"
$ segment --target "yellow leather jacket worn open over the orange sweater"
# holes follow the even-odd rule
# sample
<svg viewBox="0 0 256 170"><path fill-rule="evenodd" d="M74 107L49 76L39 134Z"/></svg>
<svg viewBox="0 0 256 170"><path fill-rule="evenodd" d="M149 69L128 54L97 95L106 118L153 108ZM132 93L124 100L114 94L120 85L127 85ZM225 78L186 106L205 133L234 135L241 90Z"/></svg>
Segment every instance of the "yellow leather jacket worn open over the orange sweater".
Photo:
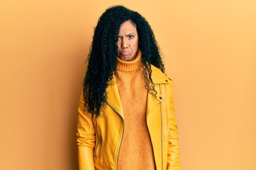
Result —
<svg viewBox="0 0 256 170"><path fill-rule="evenodd" d="M156 97L147 96L146 124L154 152L156 169L179 170L179 149L174 116L173 85L159 69L151 65ZM115 82L113 77L112 82ZM78 162L80 170L117 169L124 120L117 84L107 87L107 105L97 118L84 109L81 95L78 107Z"/></svg>

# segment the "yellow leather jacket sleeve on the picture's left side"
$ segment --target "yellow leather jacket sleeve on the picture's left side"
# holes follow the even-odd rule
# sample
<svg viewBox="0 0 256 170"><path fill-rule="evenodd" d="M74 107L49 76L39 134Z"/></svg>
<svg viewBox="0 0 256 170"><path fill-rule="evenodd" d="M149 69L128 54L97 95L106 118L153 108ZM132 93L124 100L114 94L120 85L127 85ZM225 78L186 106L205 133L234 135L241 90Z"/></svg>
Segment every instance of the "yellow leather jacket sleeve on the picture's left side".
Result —
<svg viewBox="0 0 256 170"><path fill-rule="evenodd" d="M78 106L78 166L79 170L94 170L93 153L95 149L95 129L92 114L85 111L83 95Z"/></svg>

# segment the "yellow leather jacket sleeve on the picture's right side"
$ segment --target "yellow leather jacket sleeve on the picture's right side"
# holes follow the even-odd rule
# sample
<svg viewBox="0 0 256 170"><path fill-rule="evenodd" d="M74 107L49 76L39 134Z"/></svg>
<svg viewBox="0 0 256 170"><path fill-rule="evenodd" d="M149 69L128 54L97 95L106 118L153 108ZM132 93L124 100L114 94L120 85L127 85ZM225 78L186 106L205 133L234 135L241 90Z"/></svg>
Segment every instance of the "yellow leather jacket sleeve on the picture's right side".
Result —
<svg viewBox="0 0 256 170"><path fill-rule="evenodd" d="M169 170L180 170L179 162L179 148L178 148L178 133L177 124L174 114L174 97L173 97L173 84L171 82L171 96L169 99L170 107L170 129L169 129L169 145L168 145L168 158L167 158L167 169Z"/></svg>

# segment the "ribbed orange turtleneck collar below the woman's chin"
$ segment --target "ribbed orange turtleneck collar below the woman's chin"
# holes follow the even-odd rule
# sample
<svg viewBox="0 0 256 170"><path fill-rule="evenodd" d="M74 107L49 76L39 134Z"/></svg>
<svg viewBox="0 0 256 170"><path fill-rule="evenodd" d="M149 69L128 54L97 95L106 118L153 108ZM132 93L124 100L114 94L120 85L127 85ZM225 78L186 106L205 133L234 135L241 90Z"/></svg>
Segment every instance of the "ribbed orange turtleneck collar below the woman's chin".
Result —
<svg viewBox="0 0 256 170"><path fill-rule="evenodd" d="M137 56L132 61L124 61L117 57L117 71L134 73L142 68L142 52L138 49Z"/></svg>

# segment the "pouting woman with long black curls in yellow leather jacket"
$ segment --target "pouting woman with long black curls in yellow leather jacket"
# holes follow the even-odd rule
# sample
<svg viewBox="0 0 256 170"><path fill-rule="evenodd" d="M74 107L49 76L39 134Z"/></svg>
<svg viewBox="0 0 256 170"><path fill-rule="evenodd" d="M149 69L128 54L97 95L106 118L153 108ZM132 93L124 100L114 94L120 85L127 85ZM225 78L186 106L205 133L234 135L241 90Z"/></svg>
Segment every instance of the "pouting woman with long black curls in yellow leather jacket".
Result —
<svg viewBox="0 0 256 170"><path fill-rule="evenodd" d="M79 169L180 169L171 79L149 23L100 17L78 108Z"/></svg>

